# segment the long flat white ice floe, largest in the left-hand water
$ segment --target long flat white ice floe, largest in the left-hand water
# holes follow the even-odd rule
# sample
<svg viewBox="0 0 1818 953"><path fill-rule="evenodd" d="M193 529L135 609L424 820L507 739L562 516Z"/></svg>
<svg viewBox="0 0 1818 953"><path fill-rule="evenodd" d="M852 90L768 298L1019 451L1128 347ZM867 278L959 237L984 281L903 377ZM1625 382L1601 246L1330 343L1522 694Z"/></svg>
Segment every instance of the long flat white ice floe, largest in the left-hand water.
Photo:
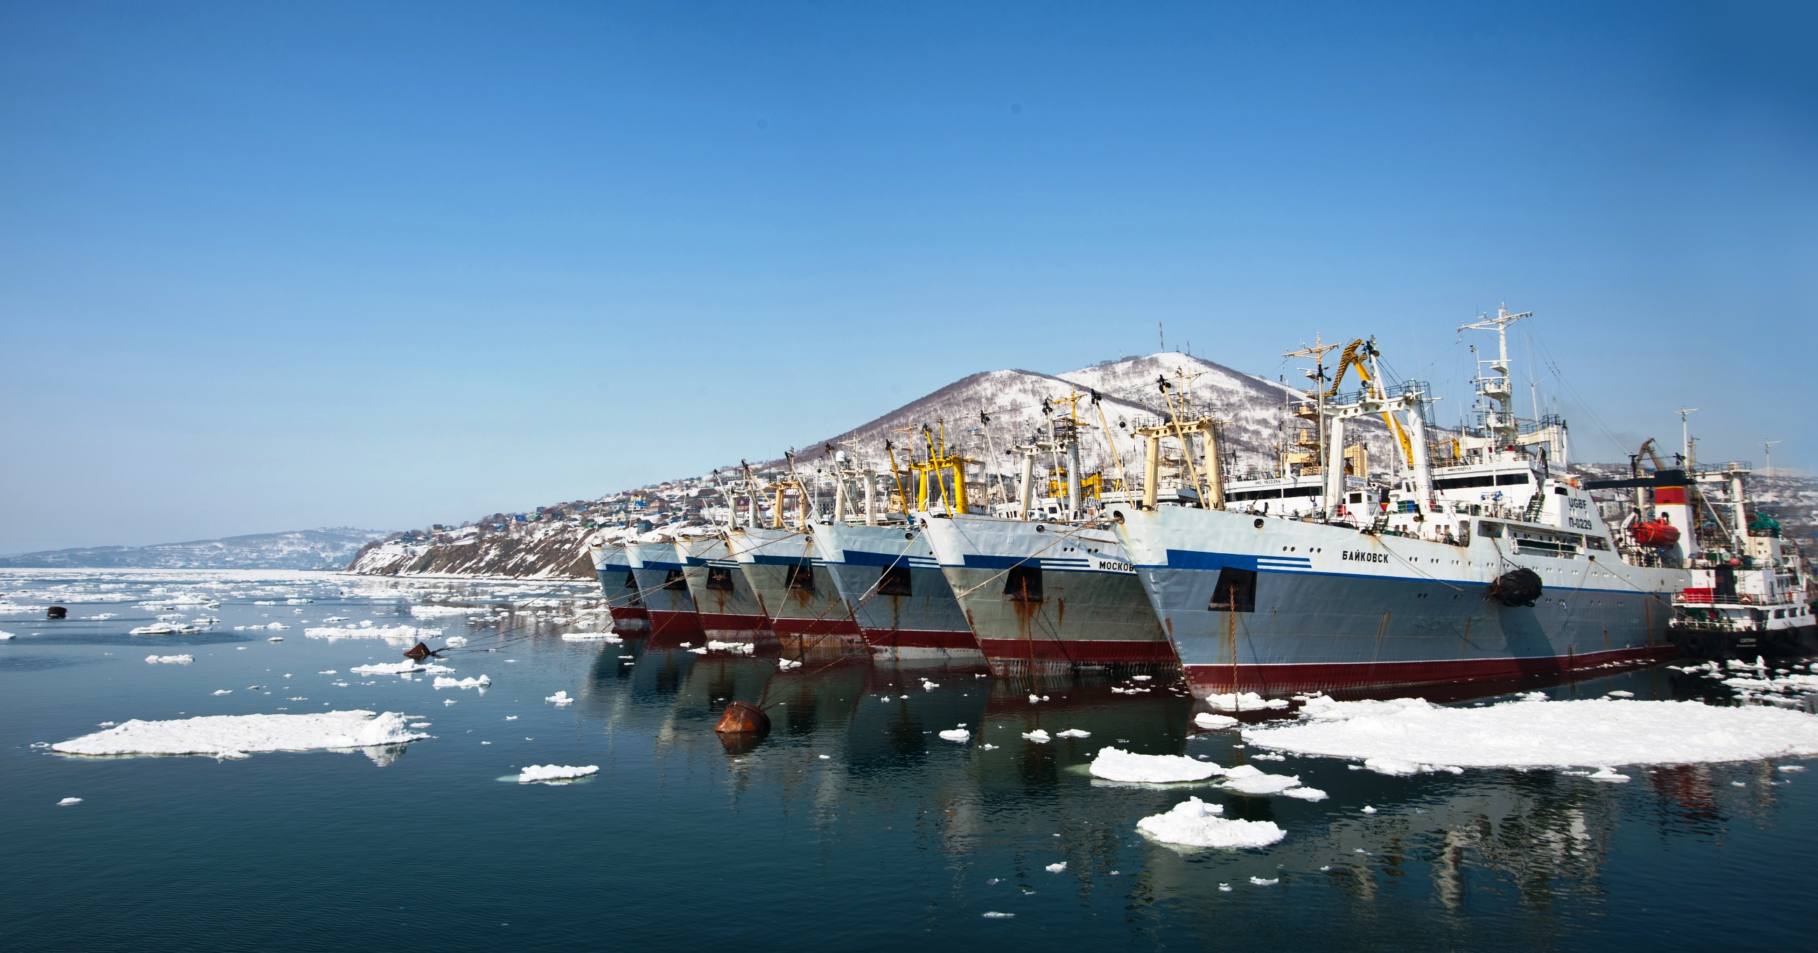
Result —
<svg viewBox="0 0 1818 953"><path fill-rule="evenodd" d="M347 749L415 742L429 735L405 727L404 715L385 711L324 711L316 715L204 715L167 722L124 722L67 742L64 755L213 755L244 758L249 751Z"/></svg>

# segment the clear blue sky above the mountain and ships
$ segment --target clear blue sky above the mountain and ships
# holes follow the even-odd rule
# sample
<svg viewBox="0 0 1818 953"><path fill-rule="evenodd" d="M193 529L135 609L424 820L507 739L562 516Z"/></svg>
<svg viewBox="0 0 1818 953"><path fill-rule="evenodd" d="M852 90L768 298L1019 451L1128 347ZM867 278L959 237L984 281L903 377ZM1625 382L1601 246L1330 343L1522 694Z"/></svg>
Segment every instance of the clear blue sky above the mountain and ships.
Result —
<svg viewBox="0 0 1818 953"><path fill-rule="evenodd" d="M1814 462L1811 16L0 4L0 551L473 518L973 371L1498 302L1578 449ZM1551 389L1543 382L1545 389ZM1593 424L1585 406L1602 420Z"/></svg>

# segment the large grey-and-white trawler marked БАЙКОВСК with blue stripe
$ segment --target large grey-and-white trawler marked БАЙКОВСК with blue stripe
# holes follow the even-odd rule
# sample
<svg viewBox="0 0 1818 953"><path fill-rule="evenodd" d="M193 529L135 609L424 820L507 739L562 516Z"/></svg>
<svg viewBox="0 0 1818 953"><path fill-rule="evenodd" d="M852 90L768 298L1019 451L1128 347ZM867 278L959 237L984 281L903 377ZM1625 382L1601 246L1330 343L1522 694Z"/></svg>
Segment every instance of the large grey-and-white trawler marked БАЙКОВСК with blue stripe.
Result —
<svg viewBox="0 0 1818 953"><path fill-rule="evenodd" d="M1322 478L1316 507L1233 509L1218 480L1204 507L1156 506L1147 487L1140 504L1107 507L1194 695L1369 693L1678 653L1667 622L1685 553L1620 538L1563 471L1565 422L1514 415L1507 327L1523 316L1462 327L1494 331L1498 353L1474 382L1478 427L1447 435L1443 455L1429 446L1423 384L1387 386L1365 342L1327 376L1333 346L1316 344L1289 355L1316 364L1318 464L1302 467ZM1345 367L1376 373L1340 396ZM1364 416L1382 416L1402 451L1374 502L1344 466L1345 424ZM1184 424L1153 431L1151 466Z"/></svg>

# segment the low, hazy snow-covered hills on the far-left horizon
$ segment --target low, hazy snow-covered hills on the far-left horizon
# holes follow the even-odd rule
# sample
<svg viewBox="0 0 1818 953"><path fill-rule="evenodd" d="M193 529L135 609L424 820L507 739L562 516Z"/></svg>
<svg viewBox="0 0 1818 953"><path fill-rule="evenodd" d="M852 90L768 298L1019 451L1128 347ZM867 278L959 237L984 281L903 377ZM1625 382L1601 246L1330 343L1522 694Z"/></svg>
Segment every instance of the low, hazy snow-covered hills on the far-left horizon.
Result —
<svg viewBox="0 0 1818 953"><path fill-rule="evenodd" d="M0 557L15 569L340 569L362 546L389 537L349 526L255 533L158 546L91 546Z"/></svg>

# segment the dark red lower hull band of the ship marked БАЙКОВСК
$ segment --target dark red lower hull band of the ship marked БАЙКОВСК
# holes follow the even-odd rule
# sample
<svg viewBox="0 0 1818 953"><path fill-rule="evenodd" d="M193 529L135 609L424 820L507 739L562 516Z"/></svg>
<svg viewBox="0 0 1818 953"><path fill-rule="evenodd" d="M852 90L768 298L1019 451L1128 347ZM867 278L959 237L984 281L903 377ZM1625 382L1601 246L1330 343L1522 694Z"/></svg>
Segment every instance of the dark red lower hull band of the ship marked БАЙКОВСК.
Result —
<svg viewBox="0 0 1818 953"><path fill-rule="evenodd" d="M1187 687L1196 698L1254 691L1264 697L1371 695L1423 686L1462 682L1520 682L1549 678L1596 667L1651 666L1678 658L1673 646L1594 651L1587 655L1547 655L1531 658L1467 658L1445 662L1313 662L1298 666L1187 666Z"/></svg>

